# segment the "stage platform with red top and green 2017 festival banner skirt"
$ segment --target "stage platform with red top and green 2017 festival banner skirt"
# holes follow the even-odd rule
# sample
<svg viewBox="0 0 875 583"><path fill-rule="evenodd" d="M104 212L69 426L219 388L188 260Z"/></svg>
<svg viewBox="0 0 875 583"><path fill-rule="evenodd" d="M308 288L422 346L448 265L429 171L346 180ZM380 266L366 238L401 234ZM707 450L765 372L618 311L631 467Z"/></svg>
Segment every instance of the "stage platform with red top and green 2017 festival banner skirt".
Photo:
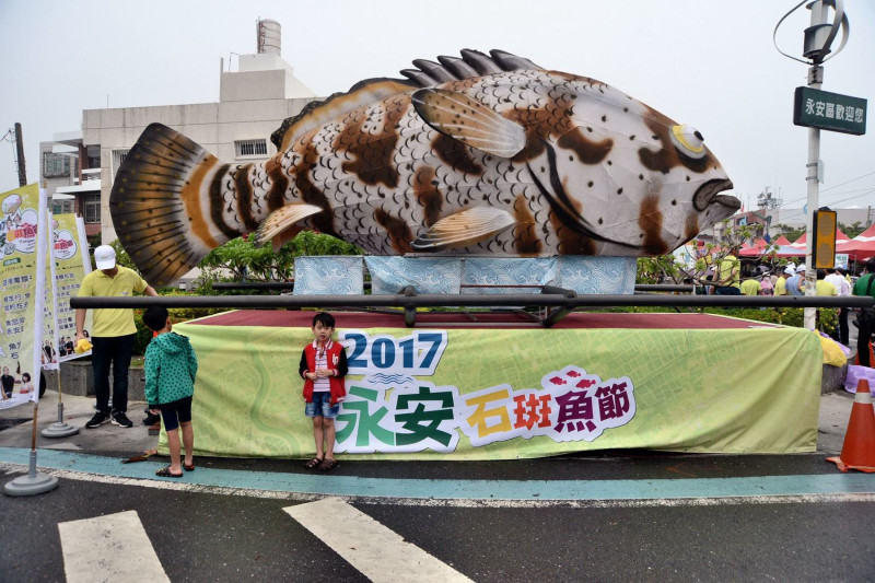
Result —
<svg viewBox="0 0 875 583"><path fill-rule="evenodd" d="M511 459L581 451L814 452L822 352L810 331L708 314L331 312L347 347L339 455ZM314 453L298 364L308 311L178 324L200 368L196 450ZM162 435L162 448L166 447Z"/></svg>

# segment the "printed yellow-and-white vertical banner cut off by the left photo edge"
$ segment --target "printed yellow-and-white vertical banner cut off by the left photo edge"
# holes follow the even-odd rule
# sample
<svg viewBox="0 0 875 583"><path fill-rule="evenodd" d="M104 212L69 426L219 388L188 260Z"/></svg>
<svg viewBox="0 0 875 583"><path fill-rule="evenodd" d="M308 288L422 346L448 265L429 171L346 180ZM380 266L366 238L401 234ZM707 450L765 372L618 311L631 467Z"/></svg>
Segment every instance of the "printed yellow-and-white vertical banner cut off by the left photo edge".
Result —
<svg viewBox="0 0 875 583"><path fill-rule="evenodd" d="M43 330L44 318L44 298L37 293L44 290L37 288L37 280L44 280L44 276L37 269L37 252L42 247L45 253L46 245L38 245L36 236L44 196L35 184L0 194L0 387L4 397L0 408L36 400L39 394L42 336L34 330Z"/></svg>

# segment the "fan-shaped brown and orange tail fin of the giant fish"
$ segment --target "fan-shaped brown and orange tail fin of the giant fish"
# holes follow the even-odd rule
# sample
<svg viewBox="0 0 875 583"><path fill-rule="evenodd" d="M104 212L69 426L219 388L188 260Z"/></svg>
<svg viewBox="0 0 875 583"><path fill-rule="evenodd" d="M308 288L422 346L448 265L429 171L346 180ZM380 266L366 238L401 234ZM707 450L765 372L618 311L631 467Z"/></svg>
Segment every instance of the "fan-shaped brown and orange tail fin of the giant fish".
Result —
<svg viewBox="0 0 875 583"><path fill-rule="evenodd" d="M226 172L214 155L161 124L147 127L126 155L109 212L121 245L151 285L173 283L232 238L203 208Z"/></svg>

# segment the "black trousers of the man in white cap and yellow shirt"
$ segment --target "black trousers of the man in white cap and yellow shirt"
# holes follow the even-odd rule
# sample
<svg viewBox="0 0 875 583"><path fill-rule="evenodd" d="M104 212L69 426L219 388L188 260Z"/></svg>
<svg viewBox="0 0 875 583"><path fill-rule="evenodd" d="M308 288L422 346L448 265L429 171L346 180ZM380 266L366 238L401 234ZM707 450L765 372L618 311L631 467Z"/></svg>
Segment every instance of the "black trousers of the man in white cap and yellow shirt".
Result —
<svg viewBox="0 0 875 583"><path fill-rule="evenodd" d="M94 393L97 409L109 412L109 365L113 365L113 411L128 410L128 369L133 352L133 334L115 337L93 337L91 368L94 370Z"/></svg>

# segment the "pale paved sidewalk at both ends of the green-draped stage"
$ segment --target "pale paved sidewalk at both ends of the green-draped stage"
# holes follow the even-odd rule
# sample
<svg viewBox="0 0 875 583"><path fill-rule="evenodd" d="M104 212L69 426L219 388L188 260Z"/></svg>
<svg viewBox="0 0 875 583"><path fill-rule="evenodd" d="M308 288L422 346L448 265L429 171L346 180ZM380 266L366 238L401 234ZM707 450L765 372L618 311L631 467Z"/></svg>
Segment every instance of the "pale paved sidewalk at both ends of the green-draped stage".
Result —
<svg viewBox="0 0 875 583"><path fill-rule="evenodd" d="M70 450L129 457L158 446L158 435L149 435L149 428L142 424L145 417L142 412L145 403L130 401L128 404L128 417L133 421L132 428L106 423L96 429L85 429L85 423L94 415L94 397L62 395L62 399L63 421L69 425L80 428L79 433L55 439L42 435L45 428L58 421L58 394L55 390L47 390L39 401L37 448ZM818 453L825 455L841 453L852 405L853 395L845 390L820 396ZM31 447L33 412L34 405L32 403L0 411L0 423L3 425L18 421L14 427L0 431L0 447Z"/></svg>

